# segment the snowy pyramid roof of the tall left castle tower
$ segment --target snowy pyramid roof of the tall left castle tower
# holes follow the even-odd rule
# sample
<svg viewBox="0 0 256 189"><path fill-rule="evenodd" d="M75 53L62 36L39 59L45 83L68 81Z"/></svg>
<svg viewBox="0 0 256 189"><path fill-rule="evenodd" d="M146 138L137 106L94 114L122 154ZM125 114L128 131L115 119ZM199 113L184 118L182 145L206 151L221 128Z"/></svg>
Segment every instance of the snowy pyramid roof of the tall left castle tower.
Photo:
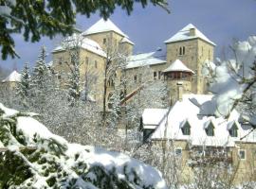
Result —
<svg viewBox="0 0 256 189"><path fill-rule="evenodd" d="M90 34L107 32L107 31L115 31L121 36L128 37L110 19L107 19L105 21L102 18L97 23L95 23L93 26L90 26L87 30L82 32L82 35L86 36L86 35L90 35Z"/></svg>

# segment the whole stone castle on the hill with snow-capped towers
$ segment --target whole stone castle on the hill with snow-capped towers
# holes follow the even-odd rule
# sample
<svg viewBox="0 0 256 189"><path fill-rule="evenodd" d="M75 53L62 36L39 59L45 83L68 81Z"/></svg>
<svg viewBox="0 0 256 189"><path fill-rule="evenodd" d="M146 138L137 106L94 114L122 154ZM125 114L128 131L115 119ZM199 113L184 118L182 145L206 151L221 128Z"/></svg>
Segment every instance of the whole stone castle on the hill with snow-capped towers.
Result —
<svg viewBox="0 0 256 189"><path fill-rule="evenodd" d="M80 74L82 83L89 88L90 96L101 104L103 100L103 85L107 60L114 58L113 51L121 51L126 56L126 77L130 77L136 84L141 80L139 69L150 67L152 79L165 80L170 91L172 103L182 94L205 94L207 85L201 74L202 64L206 60L213 60L215 43L211 42L202 32L192 24L185 26L173 37L166 40L166 59L155 57L155 52L133 54L135 43L127 34L119 29L111 20L101 19L93 26L80 34L75 34L67 39L67 43L80 39L79 45ZM111 50L110 50L111 47ZM113 50L114 49L114 50ZM63 45L57 46L52 51L53 69L59 74L58 78L65 80L69 72L68 62L71 61ZM117 70L115 77L121 80L123 72ZM108 77L107 95L114 86L113 80ZM137 86L137 85L135 85ZM130 87L124 94L132 93L136 87ZM108 97L109 98L109 97Z"/></svg>

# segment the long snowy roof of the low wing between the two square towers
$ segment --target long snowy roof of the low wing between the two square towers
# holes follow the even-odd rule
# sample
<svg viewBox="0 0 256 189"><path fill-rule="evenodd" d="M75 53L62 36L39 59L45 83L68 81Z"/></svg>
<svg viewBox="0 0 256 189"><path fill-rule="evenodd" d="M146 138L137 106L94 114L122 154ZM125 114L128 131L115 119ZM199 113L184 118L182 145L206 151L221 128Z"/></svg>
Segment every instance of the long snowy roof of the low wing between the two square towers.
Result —
<svg viewBox="0 0 256 189"><path fill-rule="evenodd" d="M126 65L126 69L166 63L166 60L155 58L153 56L154 54L155 52L150 52L130 56Z"/></svg>

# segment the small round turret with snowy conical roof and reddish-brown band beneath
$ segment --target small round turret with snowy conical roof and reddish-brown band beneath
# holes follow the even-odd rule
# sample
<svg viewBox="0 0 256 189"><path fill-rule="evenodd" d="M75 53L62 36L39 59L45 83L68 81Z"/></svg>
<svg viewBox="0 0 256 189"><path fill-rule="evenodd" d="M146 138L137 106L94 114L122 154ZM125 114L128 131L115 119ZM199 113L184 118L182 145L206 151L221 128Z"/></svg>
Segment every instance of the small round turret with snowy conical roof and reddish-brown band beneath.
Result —
<svg viewBox="0 0 256 189"><path fill-rule="evenodd" d="M171 104L182 98L182 94L192 93L192 77L194 72L181 60L175 60L163 71L171 96Z"/></svg>

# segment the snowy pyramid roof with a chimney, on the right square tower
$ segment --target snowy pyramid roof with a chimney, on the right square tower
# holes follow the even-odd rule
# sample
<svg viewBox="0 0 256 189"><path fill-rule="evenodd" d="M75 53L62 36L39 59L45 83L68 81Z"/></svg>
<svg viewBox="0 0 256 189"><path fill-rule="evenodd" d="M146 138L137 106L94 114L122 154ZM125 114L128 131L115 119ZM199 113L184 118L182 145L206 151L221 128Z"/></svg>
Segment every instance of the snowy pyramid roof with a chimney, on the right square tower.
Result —
<svg viewBox="0 0 256 189"><path fill-rule="evenodd" d="M190 29L194 29L194 35L190 34ZM166 40L164 43L173 43L173 42L179 42L184 40L192 40L196 38L200 38L214 46L216 45L215 43L211 42L201 31L199 31L192 24L189 24L188 26L183 27L176 34L174 34L172 38Z"/></svg>

